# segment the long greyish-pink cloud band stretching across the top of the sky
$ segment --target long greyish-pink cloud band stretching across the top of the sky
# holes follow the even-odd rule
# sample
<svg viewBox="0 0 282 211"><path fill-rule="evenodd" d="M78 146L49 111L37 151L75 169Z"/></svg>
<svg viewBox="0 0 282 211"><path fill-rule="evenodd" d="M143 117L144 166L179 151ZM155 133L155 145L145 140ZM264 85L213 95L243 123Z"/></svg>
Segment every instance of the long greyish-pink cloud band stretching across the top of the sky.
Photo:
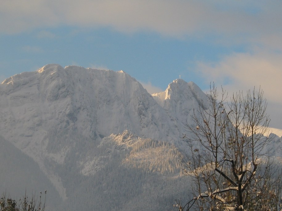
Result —
<svg viewBox="0 0 282 211"><path fill-rule="evenodd" d="M269 42L268 36L281 33L281 10L281 1L227 4L221 0L14 0L1 2L0 32L67 24L106 26L123 32L152 30L178 37L213 34L223 41L232 38L238 42ZM282 43L280 40L276 37Z"/></svg>

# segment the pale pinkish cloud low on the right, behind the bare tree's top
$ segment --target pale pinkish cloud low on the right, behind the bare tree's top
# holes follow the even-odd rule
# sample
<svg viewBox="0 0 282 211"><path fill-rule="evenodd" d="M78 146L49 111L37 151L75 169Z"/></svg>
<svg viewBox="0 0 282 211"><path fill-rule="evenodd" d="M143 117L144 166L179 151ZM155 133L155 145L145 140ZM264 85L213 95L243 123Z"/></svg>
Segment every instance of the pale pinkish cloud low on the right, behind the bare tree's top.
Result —
<svg viewBox="0 0 282 211"><path fill-rule="evenodd" d="M282 54L262 50L254 54L234 53L216 64L199 62L196 69L206 83L223 85L228 93L261 87L273 124L281 128Z"/></svg>

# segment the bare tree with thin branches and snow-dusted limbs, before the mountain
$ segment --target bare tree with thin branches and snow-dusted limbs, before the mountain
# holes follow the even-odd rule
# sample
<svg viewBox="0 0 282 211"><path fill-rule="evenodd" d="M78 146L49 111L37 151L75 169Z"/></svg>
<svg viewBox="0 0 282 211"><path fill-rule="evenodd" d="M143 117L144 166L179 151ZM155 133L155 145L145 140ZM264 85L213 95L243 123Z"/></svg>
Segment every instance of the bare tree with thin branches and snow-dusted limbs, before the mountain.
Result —
<svg viewBox="0 0 282 211"><path fill-rule="evenodd" d="M280 210L278 169L264 151L269 117L263 91L227 94L213 85L209 109L194 111L187 125L191 156L185 173L194 180L194 197L178 210Z"/></svg>

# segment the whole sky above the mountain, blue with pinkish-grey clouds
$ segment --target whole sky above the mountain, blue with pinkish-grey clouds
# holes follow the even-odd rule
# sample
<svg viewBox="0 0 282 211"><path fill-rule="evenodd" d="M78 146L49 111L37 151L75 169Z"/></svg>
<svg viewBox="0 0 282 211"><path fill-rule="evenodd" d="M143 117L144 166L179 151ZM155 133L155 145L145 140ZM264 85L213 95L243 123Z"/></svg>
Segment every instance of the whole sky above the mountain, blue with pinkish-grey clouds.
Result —
<svg viewBox="0 0 282 211"><path fill-rule="evenodd" d="M124 70L149 92L174 79L264 90L282 128L282 2L26 0L0 7L0 79L57 63Z"/></svg>

